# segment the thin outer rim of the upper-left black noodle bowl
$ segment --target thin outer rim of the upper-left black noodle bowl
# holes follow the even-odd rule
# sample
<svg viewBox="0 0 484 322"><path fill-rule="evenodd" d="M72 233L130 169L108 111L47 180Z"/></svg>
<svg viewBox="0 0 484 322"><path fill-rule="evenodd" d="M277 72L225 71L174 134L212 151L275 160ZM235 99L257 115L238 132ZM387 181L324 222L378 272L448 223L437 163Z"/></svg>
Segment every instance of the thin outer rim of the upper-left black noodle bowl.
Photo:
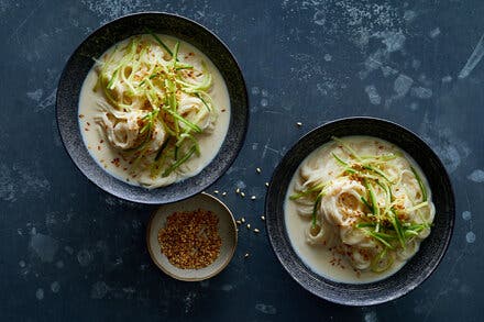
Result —
<svg viewBox="0 0 484 322"><path fill-rule="evenodd" d="M153 200L153 199L147 199L147 200L140 200L140 199L136 199L136 198L130 198L129 196L127 196L125 193L123 195L123 193L117 193L116 192L116 190L113 190L113 189L110 189L110 188L107 188L107 187L101 187L100 185L98 185L96 181L95 181L95 179L94 178L91 178L91 176L89 175L87 175L82 169L81 169L81 167L80 167L80 165L78 164L78 162L77 162L77 157L76 157L76 155L74 155L74 153L72 153L68 148L67 148L67 145L66 145L66 142L68 141L67 138L65 138L64 137L64 135L63 135L63 131L62 131L62 125L61 125L61 109L59 109L59 97L61 97L61 91L58 90L58 88L61 88L61 85L62 85L62 82L64 82L65 81L65 77L66 77L66 74L67 74L67 71L68 71L68 66L72 64L72 62L73 62L73 59L80 53L80 49L82 48L82 46L85 45L85 44L87 44L88 42L90 42L91 41L91 38L94 38L94 37L96 37L97 36L97 34L99 33L99 32L101 32L103 29L106 29L106 27L108 27L108 26L110 26L110 25L112 25L112 24L116 24L116 23L119 23L120 21L122 21L122 20L124 20L124 19L131 19L131 18L136 18L136 16L143 16L143 15L160 15L160 16L170 16L170 18L174 18L174 19L177 19L177 20L182 20L182 21L185 21L185 22L187 22L187 23L190 23L190 24L194 24L196 27L199 27L199 29L201 29L201 30L204 30L205 32L207 32L211 37L213 37L219 44L220 44L220 46L228 53L228 57L233 62L233 65L234 65L234 67L237 68L237 74L239 74L240 75L240 79L241 79L241 95L243 96L243 101L245 102L245 113L243 114L243 118L244 118L244 126L243 126L243 130L242 130L242 134L241 134L241 137L240 137L240 141L238 142L238 144L237 144L237 146L233 148L233 157L229 160L229 162L227 162L227 164L224 165L224 167L220 170L220 176L218 176L217 178L215 178L212 181L209 181L209 182L207 182L206 185L198 185L197 187L198 188L195 188L195 189L191 189L191 192L188 192L188 193L184 193L183 195L183 197L176 197L176 198L174 198L174 199L172 199L172 200L168 200L168 201L161 201L161 200ZM133 34L133 35L135 35L135 34ZM202 52L202 51L201 51ZM204 53L204 52L202 52ZM205 54L205 53L204 53ZM212 59L211 57L209 57L210 59ZM223 77L223 76L222 76ZM227 81L226 81L227 82ZM230 95L229 95L229 98L230 98ZM77 106L78 106L78 103L77 103ZM249 124L250 124L250 100L249 100L249 91L248 91L248 86L246 86L246 81L245 81L245 78L244 78L244 75L243 75L243 71L242 71L242 68L241 68L241 65L240 65L240 63L239 63L239 60L235 58L235 55L232 53L232 51L230 49L230 47L226 44L226 42L223 42L215 32L212 32L211 30L209 30L208 27L206 27L205 25L202 25L202 24L200 24L200 23L198 23L198 22L196 22L195 20L191 20L191 19L189 19L189 18L186 18L186 16L183 16L183 15L179 15L179 14L176 14L176 13L169 13L169 12L165 12L165 11L140 11L140 12L134 12L134 13L129 13L129 14L124 14L124 15L121 15L121 16L118 16L118 18L116 18L116 19L113 19L113 20L110 20L109 22L107 22L107 23L103 23L103 24L101 24L101 25L99 25L98 27L96 27L92 32L90 32L89 33L89 35L88 36L86 36L77 46L76 46L76 48L72 52L72 54L70 54L70 56L69 56L69 58L66 60L66 63L65 63L65 65L64 65L64 68L63 68L63 71L62 71L62 74L61 74L61 76L59 76L59 79L58 79L58 81L57 81L57 90L56 90L56 96L55 96L55 110L54 110L54 113L55 113L55 121L56 121L56 127L57 127L57 133L58 133L58 135L59 135L59 137L61 137L61 141L62 141L62 143L63 143L63 147L64 147L64 151L67 153L67 155L69 156L69 158L70 158L70 160L75 164L75 166L76 166L76 168L77 168L77 170L79 170L81 174L82 174L82 176L84 177L86 177L91 184L94 184L98 189L100 189L100 190L102 190L102 191L105 191L105 192L108 192L109 195L111 195L111 196L113 196L113 197L116 197L116 198L120 198L120 199L123 199L123 200L127 200L127 201L130 201L130 202L135 202L135 203L141 203L141 204L167 204L167 203L174 203L174 202L178 202L178 201L180 201L180 200L184 200L184 199L188 199L188 198L190 198L190 197L194 197L194 196L196 196L196 195L198 195L198 193L200 193L200 192L202 192L205 189L207 189L208 187L210 187L210 186L212 186L215 182L217 182L221 177L223 177L223 175L227 173L227 170L232 166L232 164L235 162L235 159L239 157L239 155L240 155L240 152L241 152L241 149L242 149L242 147L244 146L244 143L245 143L245 140L246 140L246 135L248 135L248 131L249 131ZM231 120L232 120L232 114L231 114ZM231 122L230 122L231 123ZM230 131L230 123L229 123L229 129L228 129L228 131ZM79 129L79 131L80 131L80 129ZM227 135L226 135L226 137L227 137ZM226 140L226 137L223 138L223 140ZM220 148L223 146L223 142L222 142L222 145L220 146ZM89 154L89 156L91 157L91 158L94 158L91 155L90 155L90 153L89 152L87 152L88 154ZM219 149L219 152L217 152L217 154L213 156L213 158L210 160L210 163L212 163L213 162L213 159L216 159L217 158L217 156L219 155L219 153L220 153L220 149ZM95 160L96 162L96 160ZM205 168L207 168L209 165L210 165L210 163L207 165L207 166L205 166L200 171L202 171ZM98 165L98 167L99 167L99 165ZM103 169L102 169L103 170ZM106 170L103 170L105 173L107 173ZM144 187L142 187L142 186L135 186L135 185L130 185L130 184L128 184L128 182L125 182L125 181L123 181L123 180L120 180L120 179L118 179L118 178L116 178L114 176L112 176L111 174L109 174L109 173L107 173L109 176L111 176L111 177L113 177L116 180L119 180L119 181L121 181L121 182L123 182L123 184L125 184L125 185L129 185L129 186L131 186L131 187L135 187L135 189L144 189L145 191L144 191L144 193L150 193L150 189L146 189L146 188L144 188ZM185 178L184 180L186 180L186 179L190 179L190 178L194 178L194 177L197 177L198 175L199 175L200 173L198 173L197 175L195 175L195 176L191 176L191 177L188 177L188 178ZM182 180L183 181L183 180ZM174 184L177 184L177 182L174 182ZM169 186L169 185L168 185ZM153 190L156 190L156 189L163 189L164 187L158 187L158 188L155 188L155 189L153 189Z"/></svg>

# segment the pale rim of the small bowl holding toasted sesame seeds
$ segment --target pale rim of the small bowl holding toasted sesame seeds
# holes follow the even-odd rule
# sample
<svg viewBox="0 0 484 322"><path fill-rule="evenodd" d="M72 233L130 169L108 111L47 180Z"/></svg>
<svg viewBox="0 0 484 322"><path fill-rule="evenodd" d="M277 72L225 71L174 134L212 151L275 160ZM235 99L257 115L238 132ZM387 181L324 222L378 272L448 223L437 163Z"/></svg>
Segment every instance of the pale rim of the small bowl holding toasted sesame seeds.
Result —
<svg viewBox="0 0 484 322"><path fill-rule="evenodd" d="M230 219L231 219L231 223L232 224L230 226L231 226L231 229L233 229L233 233L234 233L233 246L232 246L232 248L230 251L229 256L227 257L227 260L223 262L223 264L217 270L215 270L215 271L212 271L209 275L204 276L204 277L185 278L185 277L180 277L180 276L177 276L177 275L173 274L172 271L166 269L163 265L161 265L155 259L155 255L153 254L153 249L150 246L151 229L152 229L153 220L156 216L156 213L158 212L158 210L161 208L165 207L168 203L161 204L155 210L153 210L151 215L150 215L150 220L147 222L147 225L146 225L146 248L147 248L147 252L150 254L150 258L155 264L155 266L158 267L163 273L165 273L169 277L172 277L174 279L177 279L177 280L180 280L180 281L201 281L201 280L206 280L206 279L212 278L216 275L219 275L223 269L226 269L226 267L230 264L230 262L232 262L232 258L233 258L233 255L235 254L237 245L238 245L238 242L239 242L239 232L238 232L235 219L234 219L233 213L230 210L230 208L223 201L221 201L219 198L217 198L217 197L215 197L212 195L209 195L207 192L200 192L200 193L197 193L195 196L191 196L190 198L195 198L195 197L198 197L198 196L204 196L204 198L209 198L212 202L216 202L216 203L219 203L220 206L222 206L222 208L229 213ZM185 202L185 201L187 201L187 199L179 200L177 202ZM175 204L175 203L170 203L170 204ZM219 218L219 220L220 220L220 218Z"/></svg>

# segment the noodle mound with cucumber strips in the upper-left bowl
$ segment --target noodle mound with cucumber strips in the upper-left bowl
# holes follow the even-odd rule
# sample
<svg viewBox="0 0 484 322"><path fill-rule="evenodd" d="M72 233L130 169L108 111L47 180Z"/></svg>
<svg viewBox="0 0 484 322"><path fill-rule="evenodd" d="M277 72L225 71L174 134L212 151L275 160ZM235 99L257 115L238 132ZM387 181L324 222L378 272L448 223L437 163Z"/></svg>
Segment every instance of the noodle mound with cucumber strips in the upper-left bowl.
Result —
<svg viewBox="0 0 484 322"><path fill-rule="evenodd" d="M152 178L183 173L184 164L200 155L199 135L217 121L212 76L204 60L186 63L193 53L179 57L179 46L139 35L96 60L94 90L106 98L98 101L97 121L133 177L146 169Z"/></svg>

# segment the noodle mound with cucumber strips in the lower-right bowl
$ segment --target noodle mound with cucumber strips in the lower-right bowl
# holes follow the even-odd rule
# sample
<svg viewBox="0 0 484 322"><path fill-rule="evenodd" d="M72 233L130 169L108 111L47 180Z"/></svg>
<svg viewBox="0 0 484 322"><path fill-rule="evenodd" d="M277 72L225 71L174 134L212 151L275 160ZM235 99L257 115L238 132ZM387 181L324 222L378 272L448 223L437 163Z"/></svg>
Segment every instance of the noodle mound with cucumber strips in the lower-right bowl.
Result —
<svg viewBox="0 0 484 322"><path fill-rule="evenodd" d="M332 266L349 265L356 275L394 271L430 233L435 206L425 177L383 140L333 137L293 181L288 202L306 221L306 243L326 247Z"/></svg>

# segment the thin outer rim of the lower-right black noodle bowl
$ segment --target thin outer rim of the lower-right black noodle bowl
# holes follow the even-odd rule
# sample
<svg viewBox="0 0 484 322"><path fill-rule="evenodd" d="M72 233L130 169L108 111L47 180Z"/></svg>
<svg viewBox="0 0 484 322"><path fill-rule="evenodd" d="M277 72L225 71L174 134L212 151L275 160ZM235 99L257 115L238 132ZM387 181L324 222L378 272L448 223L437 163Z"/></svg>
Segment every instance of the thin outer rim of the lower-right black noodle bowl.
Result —
<svg viewBox="0 0 484 322"><path fill-rule="evenodd" d="M386 125L391 125L394 126L395 129L398 129L398 131L403 131L403 132L407 132L407 134L410 134L410 136L414 136L414 138L416 138L420 144L422 144L427 151L431 154L432 158L438 163L439 167L441 167L441 169L443 169L443 174L442 177L446 178L447 182L449 184L449 190L450 190L450 196L451 196L451 200L448 201L448 203L450 204L450 219L449 219L449 224L448 224L448 229L449 229L449 234L447 235L447 237L443 240L443 248L441 251L440 254L437 255L437 260L433 264L433 266L431 267L431 269L425 274L424 278L421 279L421 281L419 281L418 284L416 284L413 287L407 287L404 288L400 291L395 291L392 292L387 296L385 296L384 299L378 299L378 300L340 300L331 298L329 296L324 296L321 295L320 292L318 292L317 289L310 287L309 285L307 285L307 281L300 280L297 276L295 276L292 271L292 268L289 267L289 265L287 265L287 260L286 258L284 258L284 256L280 254L279 249L280 247L277 246L276 243L276 237L274 236L274 234L276 234L276 227L277 227L277 223L276 222L272 222L272 218L271 214L268 213L268 208L270 208L270 199L271 199L271 191L274 189L273 185L274 185L274 179L275 177L278 175L278 173L282 169L283 163L284 160L292 155L295 152L295 148L301 144L301 142L304 142L305 140L307 140L309 136L315 135L315 133L322 131L323 127L330 126L330 125L334 125L338 123L344 123L344 122L353 122L353 121L370 121L370 122L381 122L381 123L385 123ZM349 134L350 135L358 135L358 134ZM377 135L375 135L375 137L378 137ZM380 137L378 137L380 138ZM382 138L385 140L385 138ZM398 145L397 145L398 146ZM315 147L316 149L317 147ZM405 151L405 149L404 149ZM408 152L407 152L408 153ZM307 157L309 154L306 154L305 157ZM409 154L411 157L413 155ZM270 186L267 187L267 192L265 196L265 203L264 203L264 211L265 211L265 215L266 215L266 230L267 230L267 238L270 241L271 244L271 248L273 249L274 254L276 255L277 259L279 260L280 265L284 267L284 269L286 270L286 273L293 278L293 280L295 280L299 286L301 286L305 290L307 290L308 292L310 292L311 295L337 303L337 304L342 304L342 306L348 306L348 307L371 307L371 306L376 306L376 304L382 304L392 300L396 300L398 298L402 298L406 295L408 295L410 291L413 291L415 288L417 288L418 286L422 285L432 274L433 271L436 271L436 269L438 268L438 266L440 265L440 263L442 262L444 255L447 254L447 251L450 246L450 242L453 235L453 231L454 231L454 224L455 224L455 195L454 195L454 190L452 187L452 181L450 179L450 176L448 174L447 168L444 167L442 160L440 159L440 157L433 152L433 149L429 146L429 144L427 144L427 142L425 142L422 138L420 138L419 135L417 135L415 132L410 131L409 129L407 129L404 125L400 125L394 121L389 121L389 120L385 120L385 119L381 119L381 118L374 118L374 116L366 116L366 115L356 115L356 116L346 116L346 118L340 118L340 119L336 119L336 120L331 120L329 122L326 122L323 124L320 124L318 126L316 126L315 129L308 131L306 134L304 134L302 136L300 136L293 145L292 147L286 152L286 154L282 157L282 159L279 160L279 163L277 164L277 167L274 169L273 175L271 177L271 181L270 181ZM284 213L283 213L284 215ZM285 221L285 220L284 220ZM288 241L289 246L292 246L290 241ZM418 253L418 252L417 252ZM301 260L302 259L296 254L297 256L297 260ZM305 265L307 267L307 265ZM309 268L308 268L309 269ZM319 274L316 274L319 277L327 279L326 277L322 277ZM373 281L373 282L378 282L378 281L383 281L387 278L391 278L392 276L388 276L382 280L377 280L377 281ZM364 284L364 285L372 285L373 282L369 282L369 284ZM336 282L339 284L339 282ZM355 284L344 284L341 282L340 285L355 285Z"/></svg>

